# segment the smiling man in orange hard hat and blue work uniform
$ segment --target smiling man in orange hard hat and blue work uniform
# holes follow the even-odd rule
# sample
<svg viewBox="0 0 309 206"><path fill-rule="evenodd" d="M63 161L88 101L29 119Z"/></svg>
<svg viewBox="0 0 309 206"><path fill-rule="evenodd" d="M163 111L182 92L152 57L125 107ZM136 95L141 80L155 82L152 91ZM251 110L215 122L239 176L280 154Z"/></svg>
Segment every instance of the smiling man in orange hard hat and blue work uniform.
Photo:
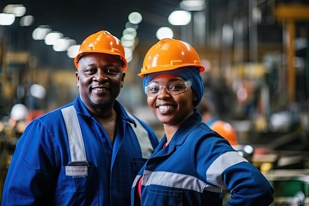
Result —
<svg viewBox="0 0 309 206"><path fill-rule="evenodd" d="M2 206L129 206L134 177L158 140L115 99L127 68L107 31L87 37L75 58L75 101L30 123L4 185Z"/></svg>

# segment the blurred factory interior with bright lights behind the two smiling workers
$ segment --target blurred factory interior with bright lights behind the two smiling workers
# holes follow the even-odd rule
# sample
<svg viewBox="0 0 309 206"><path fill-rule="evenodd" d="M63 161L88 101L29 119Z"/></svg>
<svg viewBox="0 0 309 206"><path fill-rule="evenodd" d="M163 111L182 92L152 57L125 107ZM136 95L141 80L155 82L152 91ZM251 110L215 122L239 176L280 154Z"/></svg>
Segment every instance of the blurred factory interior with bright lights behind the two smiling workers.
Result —
<svg viewBox="0 0 309 206"><path fill-rule="evenodd" d="M308 0L1 0L1 193L27 124L78 95L74 57L100 30L125 47L117 100L158 138L163 127L137 74L158 40L192 45L205 67L204 96L234 128L238 153L270 181L271 206L309 206Z"/></svg>

